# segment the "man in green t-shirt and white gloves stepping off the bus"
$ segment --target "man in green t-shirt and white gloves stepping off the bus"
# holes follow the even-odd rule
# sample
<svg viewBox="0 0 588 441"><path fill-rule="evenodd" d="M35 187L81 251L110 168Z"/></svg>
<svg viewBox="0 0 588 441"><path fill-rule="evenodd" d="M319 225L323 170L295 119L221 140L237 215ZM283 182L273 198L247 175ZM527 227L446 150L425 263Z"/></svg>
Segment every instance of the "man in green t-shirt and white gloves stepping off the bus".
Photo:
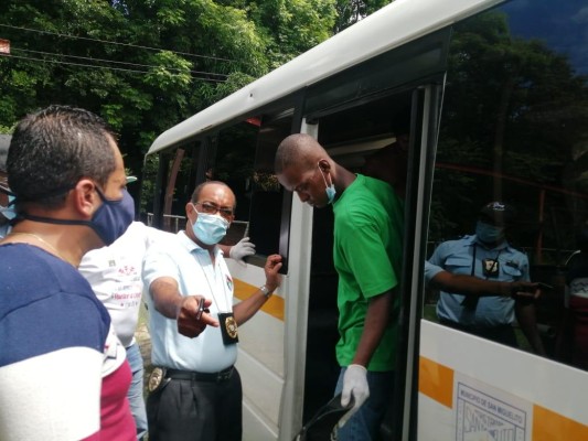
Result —
<svg viewBox="0 0 588 441"><path fill-rule="evenodd" d="M394 384L403 203L387 183L344 169L308 135L286 138L275 165L279 182L300 201L333 206L341 366L335 394L342 392L342 406L354 398L338 440L374 439Z"/></svg>

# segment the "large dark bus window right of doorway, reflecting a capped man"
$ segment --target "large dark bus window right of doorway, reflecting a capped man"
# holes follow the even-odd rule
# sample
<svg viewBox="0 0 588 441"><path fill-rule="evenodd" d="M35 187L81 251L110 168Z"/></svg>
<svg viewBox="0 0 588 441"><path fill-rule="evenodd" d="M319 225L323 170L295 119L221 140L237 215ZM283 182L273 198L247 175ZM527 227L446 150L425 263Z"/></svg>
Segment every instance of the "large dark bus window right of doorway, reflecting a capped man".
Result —
<svg viewBox="0 0 588 441"><path fill-rule="evenodd" d="M553 356L564 305L564 262L576 248L575 232L588 215L581 181L586 169L580 163L587 137L587 66L578 46L581 40L575 40L575 32L562 24L567 22L558 20L564 12L550 2L538 3L506 4L455 28L427 256L437 249L435 258L440 260L436 262L470 275L477 241L461 237L475 233L484 204L500 201L512 206L509 249L499 254L495 248L500 272L483 277L530 278L554 287L535 305L541 341L546 355ZM545 21L531 20L536 24L531 26L537 9ZM439 244L453 244L453 249L461 244L466 249L441 252ZM428 297L425 314L429 319L452 325L461 316L457 326L467 331L512 325L515 345L537 352L524 336L521 315L507 316L512 309L505 308L490 315L492 305L510 300L482 298L471 309L458 304L458 297L440 295L441 303L439 293Z"/></svg>

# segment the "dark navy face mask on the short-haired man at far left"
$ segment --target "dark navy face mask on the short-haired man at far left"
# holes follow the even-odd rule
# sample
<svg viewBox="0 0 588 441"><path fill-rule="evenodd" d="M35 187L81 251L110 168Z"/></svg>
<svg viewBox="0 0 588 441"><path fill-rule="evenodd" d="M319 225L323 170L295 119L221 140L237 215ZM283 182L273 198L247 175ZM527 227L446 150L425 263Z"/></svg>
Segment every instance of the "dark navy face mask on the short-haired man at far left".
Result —
<svg viewBox="0 0 588 441"><path fill-rule="evenodd" d="M103 204L94 213L90 220L54 219L51 217L33 216L28 213L21 213L19 216L45 224L86 225L96 232L105 245L111 245L125 234L128 226L135 219L135 202L127 190L122 191L122 198L120 200L106 198L98 187L96 187L96 192L98 192Z"/></svg>

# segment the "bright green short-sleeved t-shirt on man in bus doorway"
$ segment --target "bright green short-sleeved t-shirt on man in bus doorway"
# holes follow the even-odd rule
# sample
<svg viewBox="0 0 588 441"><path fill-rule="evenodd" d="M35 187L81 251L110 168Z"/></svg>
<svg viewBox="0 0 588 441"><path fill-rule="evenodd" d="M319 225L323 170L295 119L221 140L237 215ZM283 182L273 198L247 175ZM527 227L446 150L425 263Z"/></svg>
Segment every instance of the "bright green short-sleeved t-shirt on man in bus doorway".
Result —
<svg viewBox="0 0 588 441"><path fill-rule="evenodd" d="M387 183L359 174L333 204L334 266L339 273L336 358L349 366L362 336L368 299L398 284L402 265L404 206ZM393 370L397 344L399 297L393 318L367 366Z"/></svg>

